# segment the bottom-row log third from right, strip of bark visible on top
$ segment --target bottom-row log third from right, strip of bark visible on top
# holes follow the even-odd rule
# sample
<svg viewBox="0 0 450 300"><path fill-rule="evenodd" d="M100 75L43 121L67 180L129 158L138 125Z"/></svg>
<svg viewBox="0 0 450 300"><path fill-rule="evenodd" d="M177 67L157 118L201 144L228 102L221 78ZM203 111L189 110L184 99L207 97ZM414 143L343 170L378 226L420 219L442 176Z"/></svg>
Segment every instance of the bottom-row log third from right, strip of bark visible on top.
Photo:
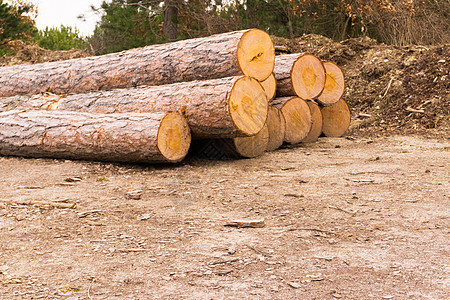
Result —
<svg viewBox="0 0 450 300"><path fill-rule="evenodd" d="M275 98L272 104L281 110L286 120L284 141L300 143L311 130L312 117L306 101L299 97Z"/></svg>

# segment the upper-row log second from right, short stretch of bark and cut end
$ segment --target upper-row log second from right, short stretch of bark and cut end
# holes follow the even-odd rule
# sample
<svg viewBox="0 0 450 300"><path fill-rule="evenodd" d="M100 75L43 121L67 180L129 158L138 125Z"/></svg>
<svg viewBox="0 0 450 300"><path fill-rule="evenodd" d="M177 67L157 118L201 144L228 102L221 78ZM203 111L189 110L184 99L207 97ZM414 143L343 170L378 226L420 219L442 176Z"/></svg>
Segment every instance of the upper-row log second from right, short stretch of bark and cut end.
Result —
<svg viewBox="0 0 450 300"><path fill-rule="evenodd" d="M320 59L308 53L275 57L277 97L299 96L315 99L325 85L325 67Z"/></svg>

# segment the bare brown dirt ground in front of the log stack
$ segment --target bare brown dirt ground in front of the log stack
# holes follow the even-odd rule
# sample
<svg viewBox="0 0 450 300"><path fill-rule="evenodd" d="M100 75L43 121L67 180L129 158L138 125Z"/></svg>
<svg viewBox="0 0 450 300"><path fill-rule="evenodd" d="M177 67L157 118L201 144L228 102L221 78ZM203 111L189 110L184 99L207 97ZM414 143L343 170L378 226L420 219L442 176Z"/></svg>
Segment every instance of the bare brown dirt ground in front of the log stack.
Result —
<svg viewBox="0 0 450 300"><path fill-rule="evenodd" d="M449 149L391 136L177 166L3 157L0 199L76 208L0 203L0 298L449 299Z"/></svg>

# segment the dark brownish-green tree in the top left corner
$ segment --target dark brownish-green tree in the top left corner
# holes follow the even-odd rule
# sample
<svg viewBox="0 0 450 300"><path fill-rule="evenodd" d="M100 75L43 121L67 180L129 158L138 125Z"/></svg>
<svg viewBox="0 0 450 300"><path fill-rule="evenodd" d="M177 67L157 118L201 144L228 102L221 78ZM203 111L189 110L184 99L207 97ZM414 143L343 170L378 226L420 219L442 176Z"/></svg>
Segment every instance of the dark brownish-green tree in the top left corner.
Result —
<svg viewBox="0 0 450 300"><path fill-rule="evenodd" d="M27 15L34 7L24 1L8 4L0 0L0 47L12 40L30 40L36 32L32 18Z"/></svg>

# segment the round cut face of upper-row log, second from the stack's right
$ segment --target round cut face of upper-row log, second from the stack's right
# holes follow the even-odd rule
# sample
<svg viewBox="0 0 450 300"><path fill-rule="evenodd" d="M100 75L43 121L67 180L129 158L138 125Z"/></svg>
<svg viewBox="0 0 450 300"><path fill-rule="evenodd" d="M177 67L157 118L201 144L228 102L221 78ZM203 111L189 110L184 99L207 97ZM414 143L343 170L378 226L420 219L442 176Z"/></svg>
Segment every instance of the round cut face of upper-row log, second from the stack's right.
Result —
<svg viewBox="0 0 450 300"><path fill-rule="evenodd" d="M314 55L304 54L292 66L291 78L296 95L302 99L315 99L325 86L325 67Z"/></svg>

